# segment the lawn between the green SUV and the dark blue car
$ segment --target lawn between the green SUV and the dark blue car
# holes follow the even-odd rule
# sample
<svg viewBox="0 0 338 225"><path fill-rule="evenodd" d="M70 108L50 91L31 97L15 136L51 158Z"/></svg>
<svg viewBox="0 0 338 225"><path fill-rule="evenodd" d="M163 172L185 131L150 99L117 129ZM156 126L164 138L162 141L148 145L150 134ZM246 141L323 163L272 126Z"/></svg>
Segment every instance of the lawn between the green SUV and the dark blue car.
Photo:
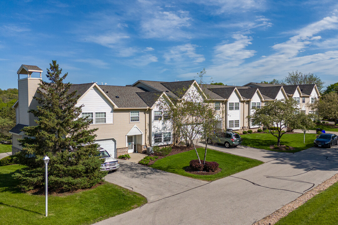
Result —
<svg viewBox="0 0 338 225"><path fill-rule="evenodd" d="M243 138L242 145L261 148L272 151L279 151L270 149L270 145L277 144L277 138L272 134L246 134L241 135ZM313 141L316 139L316 134L306 134L304 144L304 134L284 134L281 138L282 145L294 147L294 150L287 152L297 152L310 147L313 147Z"/></svg>

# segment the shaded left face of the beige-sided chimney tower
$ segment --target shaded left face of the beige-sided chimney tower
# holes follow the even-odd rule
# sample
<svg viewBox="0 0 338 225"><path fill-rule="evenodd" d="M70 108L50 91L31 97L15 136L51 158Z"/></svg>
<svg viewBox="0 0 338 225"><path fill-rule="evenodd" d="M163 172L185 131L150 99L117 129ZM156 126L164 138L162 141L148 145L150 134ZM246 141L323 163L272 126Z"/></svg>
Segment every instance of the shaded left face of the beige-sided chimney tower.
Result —
<svg viewBox="0 0 338 225"><path fill-rule="evenodd" d="M21 124L29 125L28 115L28 78L18 80L19 88L19 121Z"/></svg>

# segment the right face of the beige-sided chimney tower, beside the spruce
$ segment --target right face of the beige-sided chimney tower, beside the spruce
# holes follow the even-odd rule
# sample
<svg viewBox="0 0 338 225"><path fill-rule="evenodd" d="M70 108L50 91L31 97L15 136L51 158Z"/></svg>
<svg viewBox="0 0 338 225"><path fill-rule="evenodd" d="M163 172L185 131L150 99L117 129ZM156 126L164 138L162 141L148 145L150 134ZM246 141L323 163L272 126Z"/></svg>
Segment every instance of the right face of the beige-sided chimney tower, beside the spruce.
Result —
<svg viewBox="0 0 338 225"><path fill-rule="evenodd" d="M28 78L28 109L37 109L37 106L40 105L37 100L33 97L41 97L41 94L38 93L39 84L41 83L40 78ZM35 126L37 123L34 120L38 118L35 117L32 113L29 113L29 125Z"/></svg>

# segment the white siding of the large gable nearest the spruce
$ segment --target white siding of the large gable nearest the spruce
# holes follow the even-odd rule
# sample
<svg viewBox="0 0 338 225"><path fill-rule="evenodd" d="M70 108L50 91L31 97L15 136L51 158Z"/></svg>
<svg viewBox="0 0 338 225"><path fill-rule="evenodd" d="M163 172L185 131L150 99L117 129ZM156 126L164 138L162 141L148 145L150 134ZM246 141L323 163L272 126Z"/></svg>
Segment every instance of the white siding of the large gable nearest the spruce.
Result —
<svg viewBox="0 0 338 225"><path fill-rule="evenodd" d="M89 90L83 97L78 101L76 106L81 106L82 112L92 112L93 120L95 122L96 112L106 113L106 123L113 123L113 105L106 99L106 97L96 88Z"/></svg>

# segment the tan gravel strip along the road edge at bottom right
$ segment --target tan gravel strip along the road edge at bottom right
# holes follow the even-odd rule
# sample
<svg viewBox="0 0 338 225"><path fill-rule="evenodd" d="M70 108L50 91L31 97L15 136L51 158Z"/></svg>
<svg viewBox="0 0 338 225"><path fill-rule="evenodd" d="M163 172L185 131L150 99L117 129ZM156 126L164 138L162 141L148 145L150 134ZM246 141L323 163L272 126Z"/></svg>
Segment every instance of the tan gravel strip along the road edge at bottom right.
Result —
<svg viewBox="0 0 338 225"><path fill-rule="evenodd" d="M293 210L298 208L299 206L306 203L310 198L314 197L315 195L319 194L320 192L326 190L331 185L333 185L335 182L338 181L338 173L333 175L331 178L325 180L320 185L316 186L315 188L311 189L310 191L304 193L303 195L299 196L292 202L284 205L282 208L276 210L272 214L270 214L267 217L264 217L263 219L256 221L252 225L267 225L267 224L275 224L283 217L286 217L289 213L291 213Z"/></svg>

